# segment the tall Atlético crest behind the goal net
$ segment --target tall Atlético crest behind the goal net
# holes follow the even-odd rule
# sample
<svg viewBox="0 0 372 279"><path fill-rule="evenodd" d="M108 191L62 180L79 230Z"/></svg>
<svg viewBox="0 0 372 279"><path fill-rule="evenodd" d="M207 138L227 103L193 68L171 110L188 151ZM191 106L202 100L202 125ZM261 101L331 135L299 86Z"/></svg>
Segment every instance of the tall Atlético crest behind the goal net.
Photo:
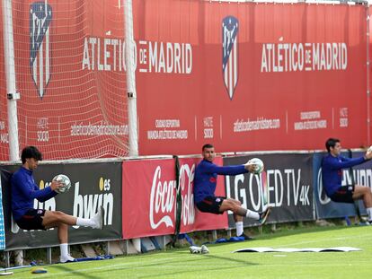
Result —
<svg viewBox="0 0 372 279"><path fill-rule="evenodd" d="M51 6L35 2L30 6L30 67L33 83L40 98L44 96L50 79L49 25L52 20Z"/></svg>

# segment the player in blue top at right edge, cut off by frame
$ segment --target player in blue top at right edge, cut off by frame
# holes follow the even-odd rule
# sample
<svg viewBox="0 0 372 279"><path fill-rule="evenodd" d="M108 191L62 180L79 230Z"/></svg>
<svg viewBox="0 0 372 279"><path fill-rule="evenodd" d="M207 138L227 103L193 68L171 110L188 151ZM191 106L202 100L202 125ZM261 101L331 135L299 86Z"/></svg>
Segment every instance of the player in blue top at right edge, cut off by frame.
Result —
<svg viewBox="0 0 372 279"><path fill-rule="evenodd" d="M328 154L323 157L322 177L323 188L327 196L336 203L354 203L362 199L368 213L368 223L372 224L372 192L369 187L360 185L341 186L342 169L359 165L372 159L372 152L368 151L363 157L345 158L341 156L341 144L337 138L329 138L325 142Z"/></svg>

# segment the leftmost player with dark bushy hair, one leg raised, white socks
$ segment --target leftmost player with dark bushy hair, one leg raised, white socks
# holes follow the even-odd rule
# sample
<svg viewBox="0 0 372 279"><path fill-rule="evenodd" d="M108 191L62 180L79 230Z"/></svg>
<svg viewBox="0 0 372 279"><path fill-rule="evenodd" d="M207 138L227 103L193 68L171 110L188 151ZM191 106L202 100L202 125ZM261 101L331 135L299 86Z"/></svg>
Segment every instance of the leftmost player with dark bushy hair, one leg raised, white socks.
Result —
<svg viewBox="0 0 372 279"><path fill-rule="evenodd" d="M49 187L40 188L35 184L32 171L38 167L42 160L42 154L34 146L27 146L22 150L22 167L17 170L11 179L12 213L13 219L23 230L48 230L58 228L58 240L60 243L60 262L75 261L68 254L68 226L86 226L93 229L102 229L103 208L99 208L98 214L91 219L76 218L59 211L34 209L33 201L36 198L41 203L57 196L56 189L63 184L52 181Z"/></svg>

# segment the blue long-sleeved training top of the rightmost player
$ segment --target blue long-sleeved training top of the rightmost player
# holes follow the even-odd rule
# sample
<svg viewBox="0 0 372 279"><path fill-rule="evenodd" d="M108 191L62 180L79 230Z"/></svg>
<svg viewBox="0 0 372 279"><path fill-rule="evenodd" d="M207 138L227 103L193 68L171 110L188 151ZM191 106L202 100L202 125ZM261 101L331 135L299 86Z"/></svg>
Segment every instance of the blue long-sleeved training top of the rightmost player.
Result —
<svg viewBox="0 0 372 279"><path fill-rule="evenodd" d="M331 153L323 157L322 161L322 179L323 188L328 196L332 196L342 181L342 169L350 168L367 161L364 157L346 158L342 156L334 157Z"/></svg>

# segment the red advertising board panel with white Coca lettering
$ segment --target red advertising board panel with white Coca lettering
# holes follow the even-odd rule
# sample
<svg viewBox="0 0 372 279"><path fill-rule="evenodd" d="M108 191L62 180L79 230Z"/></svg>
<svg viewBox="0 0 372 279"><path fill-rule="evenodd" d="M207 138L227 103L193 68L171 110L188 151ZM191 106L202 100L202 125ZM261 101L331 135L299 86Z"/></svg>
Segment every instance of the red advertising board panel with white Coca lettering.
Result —
<svg viewBox="0 0 372 279"><path fill-rule="evenodd" d="M174 233L175 184L173 159L123 162L124 239Z"/></svg>

